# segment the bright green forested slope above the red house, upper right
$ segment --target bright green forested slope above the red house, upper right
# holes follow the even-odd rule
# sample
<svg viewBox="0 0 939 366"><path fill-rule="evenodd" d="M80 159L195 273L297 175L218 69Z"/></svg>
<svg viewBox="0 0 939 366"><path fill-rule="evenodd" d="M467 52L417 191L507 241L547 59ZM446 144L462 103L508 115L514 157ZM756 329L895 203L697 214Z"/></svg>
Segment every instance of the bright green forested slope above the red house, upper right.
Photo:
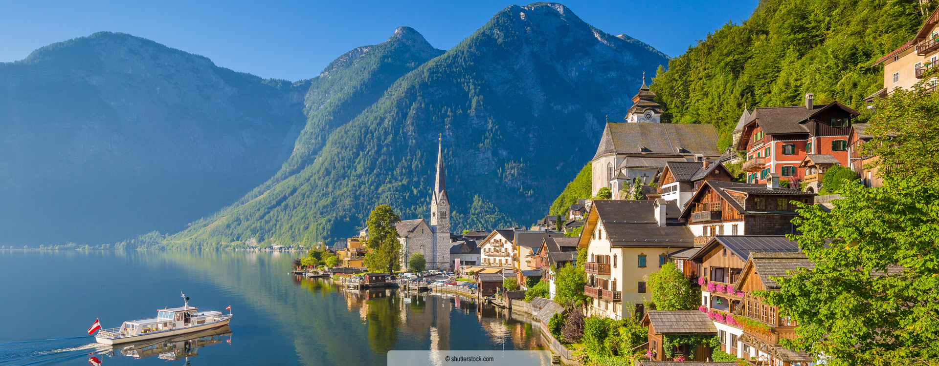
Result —
<svg viewBox="0 0 939 366"><path fill-rule="evenodd" d="M762 0L657 73L652 91L673 122L716 124L718 147L745 108L839 101L864 110L884 87L874 62L908 41L933 2ZM932 5L934 7L934 5Z"/></svg>

